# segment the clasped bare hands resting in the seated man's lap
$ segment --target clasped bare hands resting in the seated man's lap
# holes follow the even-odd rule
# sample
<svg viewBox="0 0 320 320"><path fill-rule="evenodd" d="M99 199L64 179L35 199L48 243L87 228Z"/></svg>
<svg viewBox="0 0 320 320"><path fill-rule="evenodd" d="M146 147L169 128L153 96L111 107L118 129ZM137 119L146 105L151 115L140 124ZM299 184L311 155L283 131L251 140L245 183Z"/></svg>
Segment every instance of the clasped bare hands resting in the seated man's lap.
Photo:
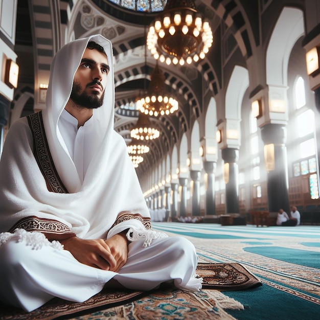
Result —
<svg viewBox="0 0 320 320"><path fill-rule="evenodd" d="M80 239L71 237L60 240L65 250L81 263L91 267L118 272L128 258L128 242L126 232L110 239Z"/></svg>

